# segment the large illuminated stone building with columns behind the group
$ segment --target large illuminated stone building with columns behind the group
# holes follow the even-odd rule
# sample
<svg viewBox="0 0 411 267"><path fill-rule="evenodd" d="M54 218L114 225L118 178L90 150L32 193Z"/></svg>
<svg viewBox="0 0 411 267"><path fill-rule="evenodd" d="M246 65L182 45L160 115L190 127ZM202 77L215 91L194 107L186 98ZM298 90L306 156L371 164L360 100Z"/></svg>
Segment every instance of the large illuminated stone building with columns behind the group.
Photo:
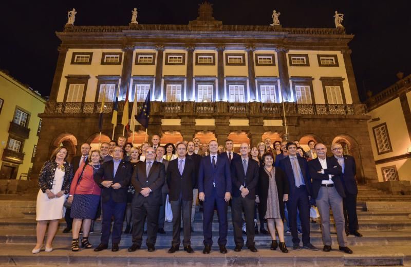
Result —
<svg viewBox="0 0 411 267"><path fill-rule="evenodd" d="M53 148L70 154L98 143L98 113L105 98L103 139L111 138L111 113L119 91L119 119L128 90L139 106L151 92L148 135L161 143L228 137L255 145L269 136L303 146L314 139L343 144L357 159L360 182L377 181L344 27L286 28L223 25L200 5L188 25L76 26L61 40L50 100L41 115L36 170ZM129 106L129 113L132 107ZM115 135L123 127L115 128ZM136 128L135 143L144 139ZM132 137L130 137L131 139ZM149 137L151 139L151 137Z"/></svg>

